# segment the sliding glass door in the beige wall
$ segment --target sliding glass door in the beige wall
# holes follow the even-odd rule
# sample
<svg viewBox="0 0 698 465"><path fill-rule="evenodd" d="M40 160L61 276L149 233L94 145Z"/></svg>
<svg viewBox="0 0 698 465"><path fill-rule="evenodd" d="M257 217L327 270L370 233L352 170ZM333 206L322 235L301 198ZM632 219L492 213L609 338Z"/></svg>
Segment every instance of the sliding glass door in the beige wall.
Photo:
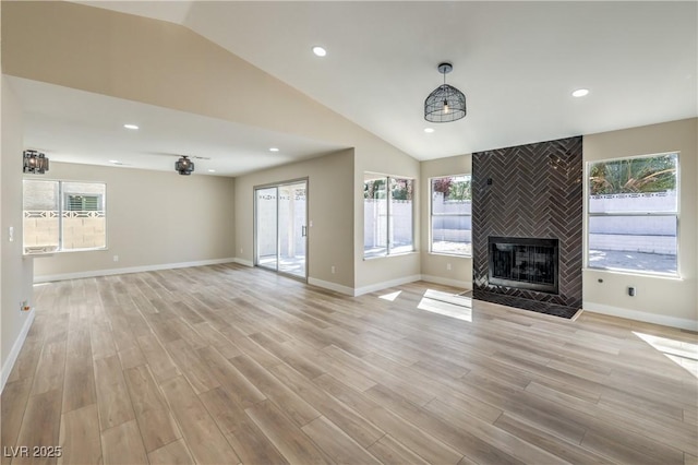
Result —
<svg viewBox="0 0 698 465"><path fill-rule="evenodd" d="M308 181L255 189L255 264L305 279Z"/></svg>

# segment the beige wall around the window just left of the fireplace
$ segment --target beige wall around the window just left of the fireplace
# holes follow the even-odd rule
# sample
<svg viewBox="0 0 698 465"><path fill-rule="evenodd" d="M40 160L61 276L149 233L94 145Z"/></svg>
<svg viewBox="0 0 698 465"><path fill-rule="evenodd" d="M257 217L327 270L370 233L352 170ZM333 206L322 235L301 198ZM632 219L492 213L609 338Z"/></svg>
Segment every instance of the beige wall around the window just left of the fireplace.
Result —
<svg viewBox="0 0 698 465"><path fill-rule="evenodd" d="M459 155L421 163L420 198L422 199L420 229L421 273L425 281L472 289L472 257L431 253L430 248L430 178L469 175L472 172L472 156ZM448 270L450 265L450 270Z"/></svg>

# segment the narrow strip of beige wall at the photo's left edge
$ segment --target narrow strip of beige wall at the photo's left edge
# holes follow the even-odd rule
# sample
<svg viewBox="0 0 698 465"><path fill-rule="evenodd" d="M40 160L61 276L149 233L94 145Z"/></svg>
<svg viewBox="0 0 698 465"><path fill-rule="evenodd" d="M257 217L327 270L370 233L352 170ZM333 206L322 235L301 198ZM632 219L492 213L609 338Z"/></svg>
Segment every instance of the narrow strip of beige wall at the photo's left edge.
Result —
<svg viewBox="0 0 698 465"><path fill-rule="evenodd" d="M0 388L10 375L12 365L24 342L24 336L34 319L34 311L21 312L20 302L32 299L32 259L22 257L22 151L23 119L17 96L4 75L2 80L2 145L0 176L2 196L0 215L0 362L2 367ZM13 228L13 241L9 229Z"/></svg>

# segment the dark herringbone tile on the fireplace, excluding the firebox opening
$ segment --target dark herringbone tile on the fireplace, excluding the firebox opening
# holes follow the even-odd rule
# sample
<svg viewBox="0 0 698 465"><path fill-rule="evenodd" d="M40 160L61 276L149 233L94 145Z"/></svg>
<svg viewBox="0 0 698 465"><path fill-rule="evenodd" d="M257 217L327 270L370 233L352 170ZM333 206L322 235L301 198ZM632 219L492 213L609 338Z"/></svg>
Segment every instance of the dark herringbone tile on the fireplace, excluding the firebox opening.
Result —
<svg viewBox="0 0 698 465"><path fill-rule="evenodd" d="M507 296L579 309L582 266L581 136L472 156L474 297ZM559 240L559 294L488 283L488 237ZM514 302L515 299L512 300ZM509 302L509 305L512 305Z"/></svg>

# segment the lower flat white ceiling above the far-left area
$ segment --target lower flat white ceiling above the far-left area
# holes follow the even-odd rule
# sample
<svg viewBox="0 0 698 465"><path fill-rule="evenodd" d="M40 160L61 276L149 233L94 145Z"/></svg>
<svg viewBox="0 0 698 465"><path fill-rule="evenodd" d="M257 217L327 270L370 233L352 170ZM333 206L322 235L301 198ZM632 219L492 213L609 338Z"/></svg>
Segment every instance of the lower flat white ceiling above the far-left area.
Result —
<svg viewBox="0 0 698 465"><path fill-rule="evenodd" d="M21 78L9 80L25 110L25 146L51 160L173 170L179 156L190 155L209 158L194 159L196 174L237 176L344 148ZM139 130L125 129L124 123ZM272 147L279 151L269 152Z"/></svg>

